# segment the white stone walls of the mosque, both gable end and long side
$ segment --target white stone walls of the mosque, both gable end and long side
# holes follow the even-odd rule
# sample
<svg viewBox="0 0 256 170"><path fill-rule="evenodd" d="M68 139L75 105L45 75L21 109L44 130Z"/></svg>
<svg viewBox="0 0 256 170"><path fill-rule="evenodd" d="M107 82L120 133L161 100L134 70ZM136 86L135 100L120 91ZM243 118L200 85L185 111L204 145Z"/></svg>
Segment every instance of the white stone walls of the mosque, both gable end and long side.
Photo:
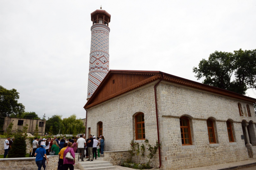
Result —
<svg viewBox="0 0 256 170"><path fill-rule="evenodd" d="M146 138L151 144L155 143L155 83L88 109L87 130L90 127L91 134L97 136L97 123L103 122L106 151L129 149L129 143L135 138L133 116L137 112L144 113ZM240 102L245 108L249 104L253 111L251 103L168 82L158 85L157 102L162 143L161 168L185 169L248 159L247 148L241 139L241 121L256 123L256 116L254 113L251 113L252 117L240 116L237 103ZM181 144L181 116L191 119L191 146ZM206 124L209 117L215 120L217 144L209 144ZM230 143L227 136L227 120L233 124L234 143ZM158 153L153 165L159 165Z"/></svg>

